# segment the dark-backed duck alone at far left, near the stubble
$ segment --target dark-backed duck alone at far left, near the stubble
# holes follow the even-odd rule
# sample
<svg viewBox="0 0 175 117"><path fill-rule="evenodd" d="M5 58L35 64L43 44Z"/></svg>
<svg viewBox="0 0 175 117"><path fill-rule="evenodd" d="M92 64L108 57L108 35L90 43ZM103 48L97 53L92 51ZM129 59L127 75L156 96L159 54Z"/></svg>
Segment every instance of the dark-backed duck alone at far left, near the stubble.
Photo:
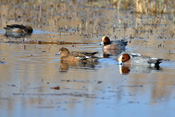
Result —
<svg viewBox="0 0 175 117"><path fill-rule="evenodd" d="M11 24L11 25L6 25L6 27L4 27L4 29L6 30L6 33L32 33L33 29L31 26L29 25L20 25L20 24Z"/></svg>

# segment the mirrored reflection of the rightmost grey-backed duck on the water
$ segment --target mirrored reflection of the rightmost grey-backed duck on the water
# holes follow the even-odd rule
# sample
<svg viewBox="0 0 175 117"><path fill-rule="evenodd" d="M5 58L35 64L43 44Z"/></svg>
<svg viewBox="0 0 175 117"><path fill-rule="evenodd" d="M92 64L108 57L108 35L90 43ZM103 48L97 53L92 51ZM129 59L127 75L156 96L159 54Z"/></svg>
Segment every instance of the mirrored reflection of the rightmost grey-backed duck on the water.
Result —
<svg viewBox="0 0 175 117"><path fill-rule="evenodd" d="M144 65L119 65L120 74L127 75L130 72L132 73L152 73L155 71L161 71L162 68L160 66L150 67Z"/></svg>

